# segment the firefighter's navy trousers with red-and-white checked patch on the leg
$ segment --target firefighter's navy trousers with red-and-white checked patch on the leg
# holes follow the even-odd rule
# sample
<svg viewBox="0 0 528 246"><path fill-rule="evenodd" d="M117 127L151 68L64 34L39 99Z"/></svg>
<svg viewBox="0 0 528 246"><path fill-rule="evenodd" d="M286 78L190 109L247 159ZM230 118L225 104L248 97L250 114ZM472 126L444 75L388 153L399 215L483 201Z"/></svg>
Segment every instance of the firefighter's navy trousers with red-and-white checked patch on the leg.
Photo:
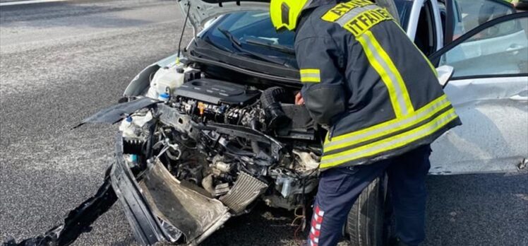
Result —
<svg viewBox="0 0 528 246"><path fill-rule="evenodd" d="M431 168L430 154L431 147L426 145L370 165L323 171L306 245L336 245L361 191L385 172L396 218L395 236L407 245L419 245L425 238L425 179Z"/></svg>

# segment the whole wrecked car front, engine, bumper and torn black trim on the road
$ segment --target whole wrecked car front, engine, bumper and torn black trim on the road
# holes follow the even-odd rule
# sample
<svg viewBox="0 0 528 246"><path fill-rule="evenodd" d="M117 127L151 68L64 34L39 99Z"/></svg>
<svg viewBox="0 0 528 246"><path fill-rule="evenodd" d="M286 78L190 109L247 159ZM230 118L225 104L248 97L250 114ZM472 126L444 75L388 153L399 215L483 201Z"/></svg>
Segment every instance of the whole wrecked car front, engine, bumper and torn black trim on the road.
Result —
<svg viewBox="0 0 528 246"><path fill-rule="evenodd" d="M306 225L325 130L292 103L294 91L214 80L181 64L148 76L146 93L140 81L140 96L76 126L121 121L115 163L97 193L20 245L68 245L117 200L141 245L198 245L258 199L295 210L294 222Z"/></svg>

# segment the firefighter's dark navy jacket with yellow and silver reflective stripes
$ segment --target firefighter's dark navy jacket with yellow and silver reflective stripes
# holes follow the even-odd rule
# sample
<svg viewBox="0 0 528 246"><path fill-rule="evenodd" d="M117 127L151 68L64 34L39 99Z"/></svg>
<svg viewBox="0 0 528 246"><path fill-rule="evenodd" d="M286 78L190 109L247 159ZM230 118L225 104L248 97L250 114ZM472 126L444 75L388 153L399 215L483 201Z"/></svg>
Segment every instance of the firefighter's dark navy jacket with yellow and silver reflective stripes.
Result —
<svg viewBox="0 0 528 246"><path fill-rule="evenodd" d="M353 0L308 12L295 50L305 105L330 127L321 169L398 156L462 124L436 69L384 8Z"/></svg>

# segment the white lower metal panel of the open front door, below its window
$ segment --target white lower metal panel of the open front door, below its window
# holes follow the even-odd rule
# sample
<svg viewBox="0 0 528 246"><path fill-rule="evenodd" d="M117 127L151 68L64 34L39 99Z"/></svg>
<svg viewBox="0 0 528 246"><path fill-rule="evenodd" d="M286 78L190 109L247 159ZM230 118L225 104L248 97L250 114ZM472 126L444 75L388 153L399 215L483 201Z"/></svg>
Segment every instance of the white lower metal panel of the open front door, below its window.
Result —
<svg viewBox="0 0 528 246"><path fill-rule="evenodd" d="M445 93L464 124L432 144L430 173L517 172L528 158L528 77L451 81Z"/></svg>

